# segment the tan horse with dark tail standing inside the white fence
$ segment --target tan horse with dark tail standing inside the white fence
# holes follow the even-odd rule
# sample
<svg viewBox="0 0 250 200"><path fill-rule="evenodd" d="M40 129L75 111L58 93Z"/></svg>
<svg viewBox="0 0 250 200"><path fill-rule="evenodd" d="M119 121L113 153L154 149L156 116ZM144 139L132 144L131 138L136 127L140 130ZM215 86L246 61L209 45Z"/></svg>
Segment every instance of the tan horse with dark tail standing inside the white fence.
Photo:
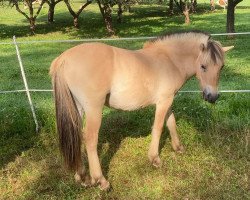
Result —
<svg viewBox="0 0 250 200"><path fill-rule="evenodd" d="M66 167L75 171L76 182L85 186L98 184L102 190L110 187L97 153L105 105L127 111L149 105L156 107L148 150L149 161L155 167L161 165L159 141L164 121L172 148L183 152L171 110L174 96L196 75L203 98L214 103L219 96L218 81L224 54L231 48L233 46L222 47L207 33L189 31L159 36L138 50L84 43L55 58L50 75L59 146ZM87 151L89 175L82 163L82 140Z"/></svg>

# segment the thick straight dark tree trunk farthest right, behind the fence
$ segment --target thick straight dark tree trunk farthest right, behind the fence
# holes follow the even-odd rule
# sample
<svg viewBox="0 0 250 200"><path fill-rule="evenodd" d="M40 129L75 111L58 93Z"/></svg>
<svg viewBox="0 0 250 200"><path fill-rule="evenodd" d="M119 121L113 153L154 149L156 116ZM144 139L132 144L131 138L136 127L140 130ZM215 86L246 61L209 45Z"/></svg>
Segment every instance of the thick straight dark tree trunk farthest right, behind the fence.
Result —
<svg viewBox="0 0 250 200"><path fill-rule="evenodd" d="M234 10L235 6L243 0L228 0L227 4L227 33L234 33Z"/></svg>

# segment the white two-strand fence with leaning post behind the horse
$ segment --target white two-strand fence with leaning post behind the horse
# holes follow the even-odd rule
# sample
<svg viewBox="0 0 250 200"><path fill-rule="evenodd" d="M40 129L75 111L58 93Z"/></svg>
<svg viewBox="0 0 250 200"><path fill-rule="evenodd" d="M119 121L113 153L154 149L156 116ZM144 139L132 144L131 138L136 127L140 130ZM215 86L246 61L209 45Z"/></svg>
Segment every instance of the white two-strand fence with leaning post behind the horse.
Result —
<svg viewBox="0 0 250 200"><path fill-rule="evenodd" d="M242 32L242 33L218 33L211 34L211 36L229 36L229 35L250 35L250 32ZM100 41L131 41L131 40L148 40L153 39L155 37L133 37L133 38L104 38L104 39L82 39L82 40L38 40L38 41L21 41L18 42L16 37L13 36L13 42L0 42L0 45L14 45L16 48L16 55L19 62L21 75L24 83L23 90L10 90L10 91L0 91L0 94L8 94L8 93L20 93L25 92L28 98L28 102L31 108L31 112L33 115L34 123L36 125L36 132L39 130L39 125L35 113L35 108L31 99L30 92L52 92L53 90L46 89L29 89L28 82L25 75L24 66L22 63L21 55L19 52L18 44L33 44L33 43L74 43L74 42L100 42ZM179 91L180 93L200 93L198 90L189 90L189 91ZM221 90L222 93L250 93L250 90Z"/></svg>

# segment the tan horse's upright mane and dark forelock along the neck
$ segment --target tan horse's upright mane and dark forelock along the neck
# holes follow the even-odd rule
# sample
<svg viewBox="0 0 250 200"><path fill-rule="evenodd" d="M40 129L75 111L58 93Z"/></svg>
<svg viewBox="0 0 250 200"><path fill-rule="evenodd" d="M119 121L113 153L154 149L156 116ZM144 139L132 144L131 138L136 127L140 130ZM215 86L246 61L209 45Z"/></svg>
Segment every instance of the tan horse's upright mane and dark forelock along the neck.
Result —
<svg viewBox="0 0 250 200"><path fill-rule="evenodd" d="M161 41L169 41L169 40L181 40L184 39L186 40L187 38L194 38L194 39L199 39L199 38L204 38L205 41L207 42L205 45L205 51L207 53L207 58L210 57L214 64L223 64L224 62L224 51L222 49L222 46L219 42L214 41L211 38L211 35L207 32L204 31L199 31L199 30L192 30L192 31L179 31L179 32L174 32L174 33L164 33L154 39L149 40L144 44L144 48L150 47L152 44L156 44Z"/></svg>

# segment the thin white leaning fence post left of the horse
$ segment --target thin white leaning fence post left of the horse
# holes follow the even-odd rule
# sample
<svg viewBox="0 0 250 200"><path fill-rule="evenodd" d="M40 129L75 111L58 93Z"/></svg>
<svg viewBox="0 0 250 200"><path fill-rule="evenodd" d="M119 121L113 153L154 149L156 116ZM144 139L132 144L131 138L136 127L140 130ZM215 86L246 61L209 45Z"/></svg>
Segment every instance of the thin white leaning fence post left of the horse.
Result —
<svg viewBox="0 0 250 200"><path fill-rule="evenodd" d="M14 42L14 45L16 47L17 59L18 59L19 66L20 66L20 69L21 69L21 74L22 74L23 83L24 83L24 86L25 86L25 91L26 91L26 94L27 94L27 97L28 97L28 100L29 100L29 105L30 105L30 108L31 108L31 111L32 111L33 119L34 119L34 122L36 124L36 132L38 132L39 126L38 126L38 122L37 122L37 118L36 118L35 109L34 109L34 106L33 106L33 103L32 103L31 97L30 97L30 91L29 91L27 79L26 79L26 76L25 76L23 63L22 63L21 56L20 56L20 53L19 53L19 48L18 48L18 45L17 45L17 42L16 42L16 36L13 36L13 42Z"/></svg>

